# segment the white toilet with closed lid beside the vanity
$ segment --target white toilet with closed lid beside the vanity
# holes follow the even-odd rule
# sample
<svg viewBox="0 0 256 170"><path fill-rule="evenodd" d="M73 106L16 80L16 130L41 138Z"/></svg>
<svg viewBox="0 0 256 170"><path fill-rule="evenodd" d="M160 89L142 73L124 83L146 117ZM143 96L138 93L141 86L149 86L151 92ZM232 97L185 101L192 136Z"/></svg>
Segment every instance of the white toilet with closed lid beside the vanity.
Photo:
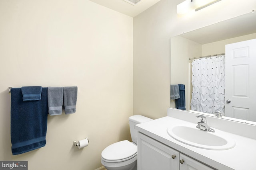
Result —
<svg viewBox="0 0 256 170"><path fill-rule="evenodd" d="M142 115L129 117L132 142L127 140L113 143L101 153L101 163L107 170L137 170L137 130L136 124L151 121Z"/></svg>

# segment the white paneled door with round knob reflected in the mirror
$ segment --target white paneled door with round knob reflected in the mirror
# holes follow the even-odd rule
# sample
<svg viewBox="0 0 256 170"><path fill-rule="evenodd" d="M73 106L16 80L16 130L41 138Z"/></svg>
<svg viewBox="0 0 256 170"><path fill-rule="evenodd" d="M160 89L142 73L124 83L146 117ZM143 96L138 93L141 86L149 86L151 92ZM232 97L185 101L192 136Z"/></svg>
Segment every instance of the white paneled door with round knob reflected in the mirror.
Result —
<svg viewBox="0 0 256 170"><path fill-rule="evenodd" d="M256 121L256 39L226 45L225 115Z"/></svg>

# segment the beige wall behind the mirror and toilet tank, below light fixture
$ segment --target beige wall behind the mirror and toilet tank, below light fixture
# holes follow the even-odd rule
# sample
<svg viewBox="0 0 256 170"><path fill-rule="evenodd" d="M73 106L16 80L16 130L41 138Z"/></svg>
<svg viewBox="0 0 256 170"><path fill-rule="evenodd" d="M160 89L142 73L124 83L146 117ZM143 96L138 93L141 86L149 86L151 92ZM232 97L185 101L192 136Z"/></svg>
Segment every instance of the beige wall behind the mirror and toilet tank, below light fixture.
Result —
<svg viewBox="0 0 256 170"><path fill-rule="evenodd" d="M256 9L255 0L222 0L187 16L184 0L161 0L134 18L134 114L166 116L170 106L170 37Z"/></svg>

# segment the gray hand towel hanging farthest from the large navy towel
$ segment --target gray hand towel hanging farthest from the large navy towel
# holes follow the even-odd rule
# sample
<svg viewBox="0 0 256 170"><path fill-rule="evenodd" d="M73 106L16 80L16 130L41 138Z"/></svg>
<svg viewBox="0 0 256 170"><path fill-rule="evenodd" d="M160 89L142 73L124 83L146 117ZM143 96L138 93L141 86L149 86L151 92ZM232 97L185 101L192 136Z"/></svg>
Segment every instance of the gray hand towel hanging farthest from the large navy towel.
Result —
<svg viewBox="0 0 256 170"><path fill-rule="evenodd" d="M77 86L63 87L65 114L76 113Z"/></svg>

